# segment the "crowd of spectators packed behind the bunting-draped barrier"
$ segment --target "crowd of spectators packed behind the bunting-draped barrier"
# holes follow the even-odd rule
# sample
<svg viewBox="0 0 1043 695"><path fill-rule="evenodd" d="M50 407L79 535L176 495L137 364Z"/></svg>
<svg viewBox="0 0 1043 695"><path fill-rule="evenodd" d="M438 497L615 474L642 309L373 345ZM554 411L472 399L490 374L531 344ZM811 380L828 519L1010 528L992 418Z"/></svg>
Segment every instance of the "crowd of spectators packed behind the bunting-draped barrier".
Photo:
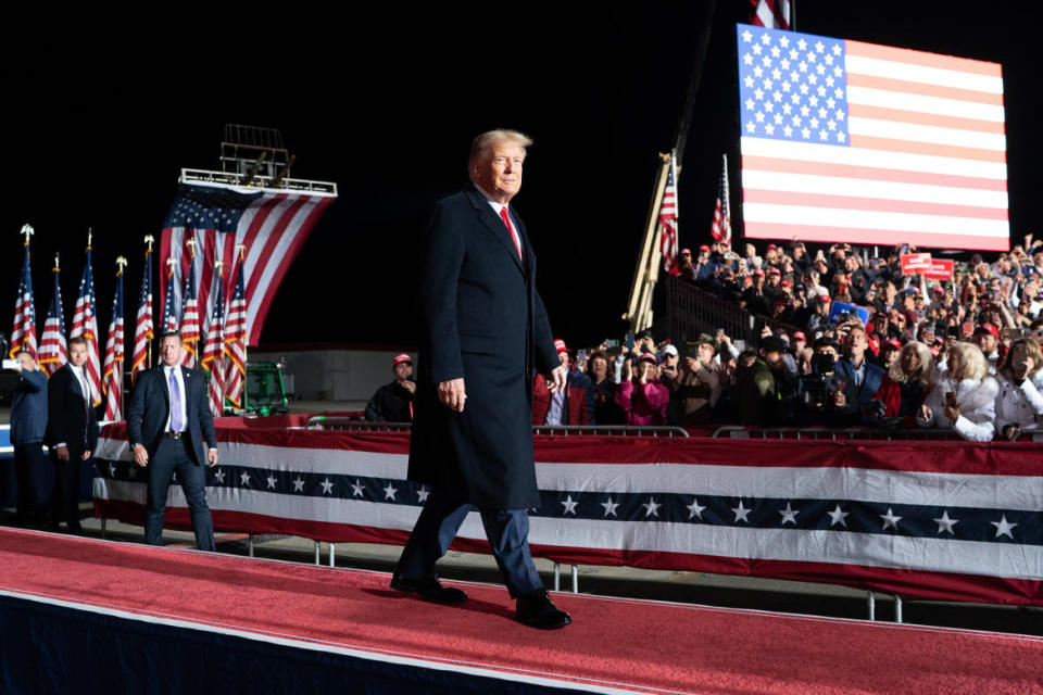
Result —
<svg viewBox="0 0 1043 695"><path fill-rule="evenodd" d="M972 441L1038 428L1043 241L1029 236L991 262L975 254L948 280L904 275L904 251L682 250L682 278L788 328L765 328L756 345L720 329L578 351L555 341L567 388L536 377L532 424L939 428ZM868 319L831 315L833 302Z"/></svg>

